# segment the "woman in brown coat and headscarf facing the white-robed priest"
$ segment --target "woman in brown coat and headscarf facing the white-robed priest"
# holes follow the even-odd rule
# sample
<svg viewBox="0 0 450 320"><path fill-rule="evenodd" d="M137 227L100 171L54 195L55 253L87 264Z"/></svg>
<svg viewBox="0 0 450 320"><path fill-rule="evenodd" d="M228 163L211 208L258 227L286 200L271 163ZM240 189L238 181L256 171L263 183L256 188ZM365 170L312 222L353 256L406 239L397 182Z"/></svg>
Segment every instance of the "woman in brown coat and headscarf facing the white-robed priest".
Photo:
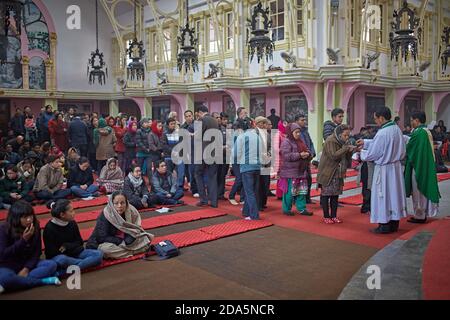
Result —
<svg viewBox="0 0 450 320"><path fill-rule="evenodd" d="M317 184L322 189L320 205L326 224L342 223L337 217L339 195L342 194L345 174L357 147L348 143L350 127L342 124L325 140L319 162ZM330 214L331 209L331 214Z"/></svg>

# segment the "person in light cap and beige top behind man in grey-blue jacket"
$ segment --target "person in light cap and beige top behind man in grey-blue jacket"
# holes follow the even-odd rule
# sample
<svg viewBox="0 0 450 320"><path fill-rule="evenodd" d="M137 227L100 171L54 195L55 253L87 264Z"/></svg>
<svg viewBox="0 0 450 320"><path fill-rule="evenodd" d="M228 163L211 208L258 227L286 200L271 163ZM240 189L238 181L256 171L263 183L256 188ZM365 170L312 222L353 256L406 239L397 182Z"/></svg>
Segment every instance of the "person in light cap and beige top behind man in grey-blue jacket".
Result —
<svg viewBox="0 0 450 320"><path fill-rule="evenodd" d="M256 192L256 200L258 202L258 209L263 211L267 207L267 190L270 189L270 155L271 155L271 141L267 133L267 126L270 121L266 117L256 117L256 134L258 134L262 144L260 149L261 154L261 169L260 169L260 183Z"/></svg>

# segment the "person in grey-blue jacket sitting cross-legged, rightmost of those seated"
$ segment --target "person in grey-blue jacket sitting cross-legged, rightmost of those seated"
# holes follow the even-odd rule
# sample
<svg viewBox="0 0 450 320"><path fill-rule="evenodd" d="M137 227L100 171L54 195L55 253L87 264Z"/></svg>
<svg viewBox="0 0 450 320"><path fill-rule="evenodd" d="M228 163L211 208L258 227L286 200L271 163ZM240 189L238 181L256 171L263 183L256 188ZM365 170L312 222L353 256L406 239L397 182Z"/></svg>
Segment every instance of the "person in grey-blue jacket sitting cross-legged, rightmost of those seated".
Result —
<svg viewBox="0 0 450 320"><path fill-rule="evenodd" d="M164 161L156 164L156 170L152 176L152 191L156 193L159 204L184 204L183 188L177 184L177 177L167 170Z"/></svg>

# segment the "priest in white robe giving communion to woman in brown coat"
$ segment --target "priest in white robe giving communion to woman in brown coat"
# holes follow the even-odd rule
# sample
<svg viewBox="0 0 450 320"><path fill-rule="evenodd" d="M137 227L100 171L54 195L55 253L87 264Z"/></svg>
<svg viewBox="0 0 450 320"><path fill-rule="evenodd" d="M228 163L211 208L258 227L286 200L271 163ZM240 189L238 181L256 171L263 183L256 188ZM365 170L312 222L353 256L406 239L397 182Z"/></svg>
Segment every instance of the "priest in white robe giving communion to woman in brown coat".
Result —
<svg viewBox="0 0 450 320"><path fill-rule="evenodd" d="M401 161L406 147L400 128L391 121L391 111L378 107L375 123L380 126L373 140L358 141L362 145L361 160L373 161L375 169L372 181L370 222L378 223L372 232L386 234L396 232L399 221L406 217L406 195Z"/></svg>

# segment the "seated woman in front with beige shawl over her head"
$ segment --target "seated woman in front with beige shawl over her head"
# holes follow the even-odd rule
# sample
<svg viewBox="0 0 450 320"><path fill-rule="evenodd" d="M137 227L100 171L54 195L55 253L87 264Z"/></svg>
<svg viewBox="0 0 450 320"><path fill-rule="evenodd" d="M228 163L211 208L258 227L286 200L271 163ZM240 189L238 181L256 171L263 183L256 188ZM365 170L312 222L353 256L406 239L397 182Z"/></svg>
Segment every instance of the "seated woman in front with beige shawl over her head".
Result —
<svg viewBox="0 0 450 320"><path fill-rule="evenodd" d="M116 191L97 218L86 248L102 251L106 259L122 259L147 252L153 238L142 228L141 215L127 196Z"/></svg>

